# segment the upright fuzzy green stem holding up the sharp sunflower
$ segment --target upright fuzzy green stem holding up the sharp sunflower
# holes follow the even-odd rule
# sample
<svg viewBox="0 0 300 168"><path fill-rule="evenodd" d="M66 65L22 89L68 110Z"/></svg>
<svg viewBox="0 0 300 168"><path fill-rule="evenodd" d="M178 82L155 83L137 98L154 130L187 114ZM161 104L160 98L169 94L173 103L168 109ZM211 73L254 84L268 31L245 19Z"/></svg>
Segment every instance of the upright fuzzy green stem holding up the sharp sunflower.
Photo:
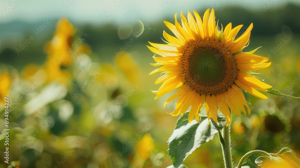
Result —
<svg viewBox="0 0 300 168"><path fill-rule="evenodd" d="M229 125L230 126L230 125ZM219 131L219 139L222 147L223 159L225 168L232 168L232 155L231 155L231 141L230 141L230 133L229 126L224 127Z"/></svg>

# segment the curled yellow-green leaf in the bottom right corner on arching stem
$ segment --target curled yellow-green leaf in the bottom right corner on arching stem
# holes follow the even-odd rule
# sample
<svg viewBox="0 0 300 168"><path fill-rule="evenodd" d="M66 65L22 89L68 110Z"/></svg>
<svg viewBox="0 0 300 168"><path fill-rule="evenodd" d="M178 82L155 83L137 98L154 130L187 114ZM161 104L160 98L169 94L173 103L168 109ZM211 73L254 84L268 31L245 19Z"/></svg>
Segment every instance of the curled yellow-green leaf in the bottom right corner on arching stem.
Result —
<svg viewBox="0 0 300 168"><path fill-rule="evenodd" d="M264 167L289 167L289 168L300 168L300 160L296 158L296 153L289 148L282 148L278 153L270 156L260 156L255 160L258 166Z"/></svg>

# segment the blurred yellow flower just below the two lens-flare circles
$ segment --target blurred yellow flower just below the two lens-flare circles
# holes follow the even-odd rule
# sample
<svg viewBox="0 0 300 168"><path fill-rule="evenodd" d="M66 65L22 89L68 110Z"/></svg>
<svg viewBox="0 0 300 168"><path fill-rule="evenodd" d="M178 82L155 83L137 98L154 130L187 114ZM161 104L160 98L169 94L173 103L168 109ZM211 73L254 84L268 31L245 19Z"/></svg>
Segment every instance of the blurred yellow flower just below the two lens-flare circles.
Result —
<svg viewBox="0 0 300 168"><path fill-rule="evenodd" d="M140 79L140 71L132 56L126 52L115 58L116 65L131 83L137 83Z"/></svg>

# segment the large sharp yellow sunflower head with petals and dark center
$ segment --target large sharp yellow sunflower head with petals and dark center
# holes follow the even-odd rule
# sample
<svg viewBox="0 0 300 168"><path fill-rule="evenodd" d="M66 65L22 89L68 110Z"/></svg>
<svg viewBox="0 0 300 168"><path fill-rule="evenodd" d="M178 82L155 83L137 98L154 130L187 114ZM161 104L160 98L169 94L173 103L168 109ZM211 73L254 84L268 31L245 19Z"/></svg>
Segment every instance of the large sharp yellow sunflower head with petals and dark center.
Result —
<svg viewBox="0 0 300 168"><path fill-rule="evenodd" d="M163 32L167 44L155 44L148 48L161 57L153 56L157 63L153 66L161 66L150 74L163 72L155 84L162 83L155 99L162 95L179 89L167 99L164 106L178 98L176 109L170 113L172 116L183 115L191 107L188 121L194 118L199 122L199 110L204 106L208 119L217 121L217 111L220 110L226 117L227 126L231 119L231 109L241 116L239 110L245 115L250 114L244 91L258 98L267 99L258 90L267 91L272 86L262 82L247 73L268 67L268 58L254 55L251 52L242 52L250 38L253 24L236 38L243 27L239 25L232 29L229 23L224 31L215 22L214 9L206 10L203 20L196 11L195 18L188 11L187 18L181 12L181 24L177 21L175 13L175 25L164 22L176 37ZM239 110L238 110L239 109ZM247 109L247 111L246 111Z"/></svg>

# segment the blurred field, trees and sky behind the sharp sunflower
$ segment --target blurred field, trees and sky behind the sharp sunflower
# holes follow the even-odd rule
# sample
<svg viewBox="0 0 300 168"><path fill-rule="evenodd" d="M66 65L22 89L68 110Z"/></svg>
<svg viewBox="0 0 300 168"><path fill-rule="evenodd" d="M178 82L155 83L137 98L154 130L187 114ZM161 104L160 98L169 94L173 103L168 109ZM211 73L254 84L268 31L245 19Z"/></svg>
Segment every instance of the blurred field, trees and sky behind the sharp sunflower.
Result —
<svg viewBox="0 0 300 168"><path fill-rule="evenodd" d="M225 27L253 22L244 51L266 56L271 66L255 71L283 94L300 96L300 1L152 0L0 2L0 130L4 97L9 104L9 162L21 168L165 168L172 162L167 140L178 117L163 108L171 93L154 101L150 89L159 74L148 41L164 43L164 20L214 8ZM178 17L180 20L180 17ZM277 153L283 147L300 158L298 99L246 94L252 113L233 115L235 166L248 151ZM3 151L3 152L2 152ZM219 168L217 137L184 161L189 168Z"/></svg>

